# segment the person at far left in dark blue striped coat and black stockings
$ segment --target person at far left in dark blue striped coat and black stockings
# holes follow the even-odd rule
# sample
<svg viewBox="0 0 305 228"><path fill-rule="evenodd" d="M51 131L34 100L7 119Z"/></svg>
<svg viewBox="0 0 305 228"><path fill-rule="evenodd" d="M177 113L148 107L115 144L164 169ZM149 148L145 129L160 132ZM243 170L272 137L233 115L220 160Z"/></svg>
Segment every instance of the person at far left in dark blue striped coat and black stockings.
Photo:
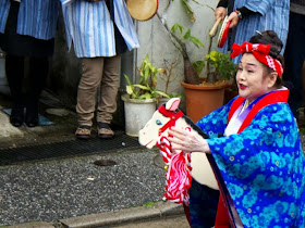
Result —
<svg viewBox="0 0 305 228"><path fill-rule="evenodd" d="M53 53L59 3L57 0L0 1L0 48L7 54L5 73L13 101L10 122L15 127L24 122L28 127L38 124L38 98L48 76L48 58ZM29 60L26 101L22 94L25 58Z"/></svg>

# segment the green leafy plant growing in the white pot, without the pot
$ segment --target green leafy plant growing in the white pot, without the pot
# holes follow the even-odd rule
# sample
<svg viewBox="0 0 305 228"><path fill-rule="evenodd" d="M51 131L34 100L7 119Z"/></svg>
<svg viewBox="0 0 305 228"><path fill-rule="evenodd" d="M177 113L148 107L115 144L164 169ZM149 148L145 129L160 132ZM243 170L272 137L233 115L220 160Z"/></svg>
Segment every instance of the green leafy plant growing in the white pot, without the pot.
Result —
<svg viewBox="0 0 305 228"><path fill-rule="evenodd" d="M157 90L157 75L164 73L164 68L155 67L148 59L148 54L144 58L141 67L137 68L139 75L138 84L132 84L129 76L124 74L127 81L126 92L132 99L152 99L164 97L169 98L166 92Z"/></svg>

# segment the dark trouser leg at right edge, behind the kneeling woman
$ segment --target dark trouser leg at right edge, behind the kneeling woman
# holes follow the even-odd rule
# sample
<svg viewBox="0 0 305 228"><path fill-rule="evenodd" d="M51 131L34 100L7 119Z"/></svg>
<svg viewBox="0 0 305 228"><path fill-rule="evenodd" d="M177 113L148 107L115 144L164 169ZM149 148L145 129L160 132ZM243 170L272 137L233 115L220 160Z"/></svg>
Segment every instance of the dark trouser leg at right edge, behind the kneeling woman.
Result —
<svg viewBox="0 0 305 228"><path fill-rule="evenodd" d="M296 118L297 109L303 104L302 67L305 58L305 16L290 13L288 42L284 52L283 79L290 89L289 104Z"/></svg>

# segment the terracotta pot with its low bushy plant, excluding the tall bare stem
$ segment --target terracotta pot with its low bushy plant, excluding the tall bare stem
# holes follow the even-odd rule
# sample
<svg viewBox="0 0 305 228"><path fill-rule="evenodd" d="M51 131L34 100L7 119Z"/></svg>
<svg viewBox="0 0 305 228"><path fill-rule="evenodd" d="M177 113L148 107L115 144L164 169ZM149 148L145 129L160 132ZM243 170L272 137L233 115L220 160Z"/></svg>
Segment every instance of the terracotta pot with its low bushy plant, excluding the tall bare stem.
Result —
<svg viewBox="0 0 305 228"><path fill-rule="evenodd" d="M217 50L209 51L205 60L199 63L195 62L193 66L197 72L203 68L203 65L206 66L207 77L202 84L181 83L185 90L186 113L194 122L223 105L225 89L232 81L234 83L237 71L230 54Z"/></svg>

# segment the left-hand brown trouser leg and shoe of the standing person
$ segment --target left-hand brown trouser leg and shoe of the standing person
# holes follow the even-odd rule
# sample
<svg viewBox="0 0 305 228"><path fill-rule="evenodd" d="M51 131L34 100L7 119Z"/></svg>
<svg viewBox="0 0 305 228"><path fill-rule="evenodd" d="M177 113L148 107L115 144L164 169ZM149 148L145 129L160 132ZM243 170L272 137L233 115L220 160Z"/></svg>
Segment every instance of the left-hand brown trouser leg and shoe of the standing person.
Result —
<svg viewBox="0 0 305 228"><path fill-rule="evenodd" d="M77 138L88 138L96 107L97 89L102 76L103 58L84 58L82 68L83 75L78 85L76 104L80 127L75 135Z"/></svg>

